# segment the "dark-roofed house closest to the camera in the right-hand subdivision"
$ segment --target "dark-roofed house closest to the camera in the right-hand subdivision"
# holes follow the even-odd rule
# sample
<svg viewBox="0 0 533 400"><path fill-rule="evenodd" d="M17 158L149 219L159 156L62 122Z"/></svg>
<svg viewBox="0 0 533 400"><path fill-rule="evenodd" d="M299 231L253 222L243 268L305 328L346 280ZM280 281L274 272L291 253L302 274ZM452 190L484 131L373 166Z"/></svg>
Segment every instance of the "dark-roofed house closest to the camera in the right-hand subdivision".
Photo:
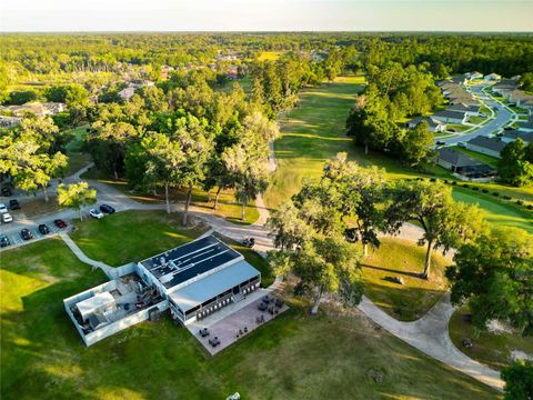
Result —
<svg viewBox="0 0 533 400"><path fill-rule="evenodd" d="M496 173L490 166L451 148L438 150L436 163L467 179L494 177Z"/></svg>

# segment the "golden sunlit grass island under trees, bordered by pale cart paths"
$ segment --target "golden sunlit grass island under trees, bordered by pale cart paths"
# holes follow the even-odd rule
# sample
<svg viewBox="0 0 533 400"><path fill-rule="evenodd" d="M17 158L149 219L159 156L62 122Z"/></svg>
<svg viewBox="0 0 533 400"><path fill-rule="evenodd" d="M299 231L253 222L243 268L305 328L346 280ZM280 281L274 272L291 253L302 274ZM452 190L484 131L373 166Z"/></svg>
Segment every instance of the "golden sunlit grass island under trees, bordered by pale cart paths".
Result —
<svg viewBox="0 0 533 400"><path fill-rule="evenodd" d="M382 239L380 248L369 251L369 258L361 261L364 293L398 320L423 317L446 291L444 269L452 263L435 251L430 279L425 280L419 277L424 261L425 247L403 239ZM404 284L392 282L393 277L401 277Z"/></svg>

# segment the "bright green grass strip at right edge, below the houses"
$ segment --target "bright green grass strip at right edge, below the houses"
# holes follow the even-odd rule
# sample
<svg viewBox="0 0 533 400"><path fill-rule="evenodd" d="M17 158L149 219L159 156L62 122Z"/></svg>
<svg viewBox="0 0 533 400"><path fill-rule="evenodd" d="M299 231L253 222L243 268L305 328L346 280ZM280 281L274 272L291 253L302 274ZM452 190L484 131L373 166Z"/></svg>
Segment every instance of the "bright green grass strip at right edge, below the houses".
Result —
<svg viewBox="0 0 533 400"><path fill-rule="evenodd" d="M533 214L525 209L522 211L513 204L505 204L502 201L493 200L491 194L474 192L472 189L457 188L453 189L453 198L470 204L477 204L483 211L485 219L493 224L500 227L514 227L533 233Z"/></svg>

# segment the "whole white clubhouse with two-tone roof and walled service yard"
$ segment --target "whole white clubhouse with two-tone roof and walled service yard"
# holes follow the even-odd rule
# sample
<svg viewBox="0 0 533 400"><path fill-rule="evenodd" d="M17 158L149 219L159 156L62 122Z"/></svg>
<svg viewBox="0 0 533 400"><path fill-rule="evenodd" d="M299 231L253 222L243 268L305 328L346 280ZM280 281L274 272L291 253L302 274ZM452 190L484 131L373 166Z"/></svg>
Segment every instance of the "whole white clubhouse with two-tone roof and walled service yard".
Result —
<svg viewBox="0 0 533 400"><path fill-rule="evenodd" d="M180 324L199 321L260 288L261 273L228 244L208 236L110 272L111 280L63 300L91 346L170 309Z"/></svg>

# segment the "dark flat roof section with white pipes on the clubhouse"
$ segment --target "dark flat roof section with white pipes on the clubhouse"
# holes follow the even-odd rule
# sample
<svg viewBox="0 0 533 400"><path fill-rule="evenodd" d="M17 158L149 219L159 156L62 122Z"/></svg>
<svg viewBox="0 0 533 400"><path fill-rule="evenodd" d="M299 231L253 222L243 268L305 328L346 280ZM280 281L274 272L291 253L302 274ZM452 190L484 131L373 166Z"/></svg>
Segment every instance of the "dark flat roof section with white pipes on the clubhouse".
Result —
<svg viewBox="0 0 533 400"><path fill-rule="evenodd" d="M167 289L243 259L242 254L213 236L194 240L153 256L140 263Z"/></svg>

